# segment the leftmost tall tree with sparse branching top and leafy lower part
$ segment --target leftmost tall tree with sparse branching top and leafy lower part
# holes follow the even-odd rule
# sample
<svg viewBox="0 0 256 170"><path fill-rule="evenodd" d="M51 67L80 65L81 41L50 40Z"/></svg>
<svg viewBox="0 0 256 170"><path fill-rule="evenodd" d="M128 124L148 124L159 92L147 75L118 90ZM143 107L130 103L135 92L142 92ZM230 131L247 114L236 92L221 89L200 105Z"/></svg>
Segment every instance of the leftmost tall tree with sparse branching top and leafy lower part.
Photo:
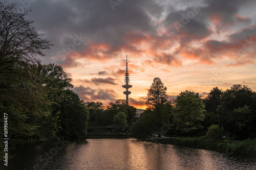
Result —
<svg viewBox="0 0 256 170"><path fill-rule="evenodd" d="M36 57L45 56L42 51L51 44L32 26L33 21L24 18L28 11L20 14L17 10L15 4L0 2L1 116L8 113L12 142L45 141L54 137L57 126L44 87L36 82Z"/></svg>

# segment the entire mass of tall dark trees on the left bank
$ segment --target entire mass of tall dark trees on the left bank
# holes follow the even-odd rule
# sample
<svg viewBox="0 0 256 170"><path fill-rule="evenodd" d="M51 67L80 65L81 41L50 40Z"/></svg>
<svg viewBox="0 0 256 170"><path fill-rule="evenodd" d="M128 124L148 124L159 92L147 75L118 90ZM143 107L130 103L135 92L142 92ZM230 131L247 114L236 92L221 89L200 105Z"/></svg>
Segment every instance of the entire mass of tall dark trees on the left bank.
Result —
<svg viewBox="0 0 256 170"><path fill-rule="evenodd" d="M9 147L87 135L89 111L62 67L38 60L52 44L24 18L27 13L0 2L0 148L6 138L3 120Z"/></svg>

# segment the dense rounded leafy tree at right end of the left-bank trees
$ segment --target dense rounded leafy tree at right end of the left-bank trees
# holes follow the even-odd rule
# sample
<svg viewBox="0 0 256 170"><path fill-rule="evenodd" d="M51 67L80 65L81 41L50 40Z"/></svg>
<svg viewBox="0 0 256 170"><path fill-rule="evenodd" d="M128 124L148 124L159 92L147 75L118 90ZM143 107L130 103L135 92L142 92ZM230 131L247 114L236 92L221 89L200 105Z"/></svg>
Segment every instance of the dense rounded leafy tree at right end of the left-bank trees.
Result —
<svg viewBox="0 0 256 170"><path fill-rule="evenodd" d="M87 135L89 111L86 104L71 88L72 79L60 65L47 64L38 68L41 78L38 80L47 89L51 101L52 114L58 116L58 135L77 138Z"/></svg>

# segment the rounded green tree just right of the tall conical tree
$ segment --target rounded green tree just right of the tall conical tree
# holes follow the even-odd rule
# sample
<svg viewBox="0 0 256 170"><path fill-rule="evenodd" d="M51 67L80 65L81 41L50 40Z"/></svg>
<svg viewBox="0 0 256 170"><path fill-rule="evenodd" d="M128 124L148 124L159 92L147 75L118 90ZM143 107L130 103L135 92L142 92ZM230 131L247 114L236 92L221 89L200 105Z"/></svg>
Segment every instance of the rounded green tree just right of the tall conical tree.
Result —
<svg viewBox="0 0 256 170"><path fill-rule="evenodd" d="M200 124L204 120L205 106L199 93L184 91L181 92L176 100L172 115L176 129L182 133L191 133L202 129Z"/></svg>

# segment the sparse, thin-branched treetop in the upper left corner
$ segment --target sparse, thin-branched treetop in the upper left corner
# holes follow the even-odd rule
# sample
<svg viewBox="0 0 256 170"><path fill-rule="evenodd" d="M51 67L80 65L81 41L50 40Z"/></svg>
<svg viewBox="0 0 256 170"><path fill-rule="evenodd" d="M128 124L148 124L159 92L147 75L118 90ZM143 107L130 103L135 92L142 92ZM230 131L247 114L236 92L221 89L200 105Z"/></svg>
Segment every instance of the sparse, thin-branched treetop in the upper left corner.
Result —
<svg viewBox="0 0 256 170"><path fill-rule="evenodd" d="M18 5L0 2L0 71L20 63L32 64L50 48L50 41L42 39L44 35L32 26L33 21L24 18L28 12L19 13Z"/></svg>

